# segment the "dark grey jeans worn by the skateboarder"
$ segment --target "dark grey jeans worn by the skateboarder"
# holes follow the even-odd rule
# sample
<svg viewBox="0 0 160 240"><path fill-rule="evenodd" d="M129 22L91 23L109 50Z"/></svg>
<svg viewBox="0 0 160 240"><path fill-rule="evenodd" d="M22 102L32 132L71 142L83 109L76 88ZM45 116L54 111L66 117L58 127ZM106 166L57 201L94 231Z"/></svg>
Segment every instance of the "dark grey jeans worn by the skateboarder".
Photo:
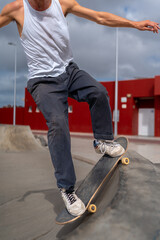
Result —
<svg viewBox="0 0 160 240"><path fill-rule="evenodd" d="M96 139L113 139L112 117L106 89L89 74L71 62L58 77L34 78L28 81L31 93L48 126L48 147L59 188L75 185L68 126L68 97L89 104Z"/></svg>

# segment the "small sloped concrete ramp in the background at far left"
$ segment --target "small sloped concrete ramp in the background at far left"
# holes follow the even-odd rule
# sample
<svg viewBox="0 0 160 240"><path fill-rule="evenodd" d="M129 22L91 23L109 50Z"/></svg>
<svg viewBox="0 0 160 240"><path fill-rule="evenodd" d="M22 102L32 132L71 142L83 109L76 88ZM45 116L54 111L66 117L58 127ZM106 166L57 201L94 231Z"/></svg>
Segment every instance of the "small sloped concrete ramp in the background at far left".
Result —
<svg viewBox="0 0 160 240"><path fill-rule="evenodd" d="M29 126L0 125L0 150L21 152L43 150Z"/></svg>

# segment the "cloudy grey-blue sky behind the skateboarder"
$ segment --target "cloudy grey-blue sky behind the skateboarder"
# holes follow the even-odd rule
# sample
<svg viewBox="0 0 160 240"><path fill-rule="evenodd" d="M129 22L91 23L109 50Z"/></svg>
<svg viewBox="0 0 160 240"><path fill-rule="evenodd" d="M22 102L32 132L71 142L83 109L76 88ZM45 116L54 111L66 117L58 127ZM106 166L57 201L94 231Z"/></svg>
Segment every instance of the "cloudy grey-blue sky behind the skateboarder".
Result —
<svg viewBox="0 0 160 240"><path fill-rule="evenodd" d="M1 0L0 11L12 0ZM159 0L78 0L88 8L111 12L131 20L160 22ZM98 81L115 79L116 29L68 16L75 62ZM17 105L24 105L27 66L15 23L0 29L0 107L13 105L14 47L17 44ZM119 29L119 79L160 75L160 34Z"/></svg>

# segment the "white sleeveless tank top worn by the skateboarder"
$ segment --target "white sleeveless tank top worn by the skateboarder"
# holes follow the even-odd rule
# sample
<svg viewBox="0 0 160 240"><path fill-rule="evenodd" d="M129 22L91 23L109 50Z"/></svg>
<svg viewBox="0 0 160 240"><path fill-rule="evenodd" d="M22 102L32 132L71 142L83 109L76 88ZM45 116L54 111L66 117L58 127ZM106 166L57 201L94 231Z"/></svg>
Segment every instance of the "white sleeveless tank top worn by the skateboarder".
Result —
<svg viewBox="0 0 160 240"><path fill-rule="evenodd" d="M27 56L28 79L56 77L73 60L66 18L59 0L52 0L45 11L36 11L24 3L21 43Z"/></svg>

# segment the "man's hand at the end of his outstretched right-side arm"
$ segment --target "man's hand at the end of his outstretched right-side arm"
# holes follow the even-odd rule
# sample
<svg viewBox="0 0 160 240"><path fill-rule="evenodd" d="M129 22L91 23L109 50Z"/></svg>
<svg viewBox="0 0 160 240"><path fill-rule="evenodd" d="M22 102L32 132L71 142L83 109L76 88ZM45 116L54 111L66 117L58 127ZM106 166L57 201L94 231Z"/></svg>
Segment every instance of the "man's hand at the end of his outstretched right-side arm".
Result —
<svg viewBox="0 0 160 240"><path fill-rule="evenodd" d="M159 23L150 20L135 22L135 28L140 31L151 31L153 33L158 33L158 30L160 29Z"/></svg>

